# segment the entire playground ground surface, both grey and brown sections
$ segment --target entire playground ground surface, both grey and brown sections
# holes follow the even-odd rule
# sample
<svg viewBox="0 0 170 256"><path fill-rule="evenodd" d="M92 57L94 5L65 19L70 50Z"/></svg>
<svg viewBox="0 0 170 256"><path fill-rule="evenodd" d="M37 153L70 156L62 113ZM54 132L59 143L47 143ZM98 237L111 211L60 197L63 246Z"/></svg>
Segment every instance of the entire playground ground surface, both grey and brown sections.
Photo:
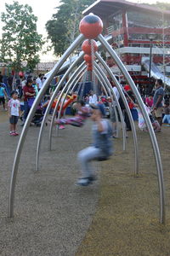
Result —
<svg viewBox="0 0 170 256"><path fill-rule="evenodd" d="M68 126L59 131L51 152L46 127L39 172L35 172L39 128L30 128L20 160L14 218L8 219L8 186L19 138L8 136L4 114L0 123L0 255L170 255L169 127L156 135L167 196L167 224L162 225L156 165L147 133L138 131L138 178L133 177L129 132L126 152L122 152L122 139L117 139L111 160L95 163L98 181L88 188L75 186L77 152L91 142L90 126L88 121L82 129Z"/></svg>

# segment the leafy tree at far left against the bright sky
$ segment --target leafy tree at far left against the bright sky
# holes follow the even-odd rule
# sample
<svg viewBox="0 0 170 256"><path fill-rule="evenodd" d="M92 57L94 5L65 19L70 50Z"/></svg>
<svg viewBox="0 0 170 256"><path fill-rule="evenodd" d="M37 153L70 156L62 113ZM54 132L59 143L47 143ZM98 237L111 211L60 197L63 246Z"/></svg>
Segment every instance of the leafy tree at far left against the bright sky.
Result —
<svg viewBox="0 0 170 256"><path fill-rule="evenodd" d="M6 3L5 7L6 12L2 13L1 59L10 63L16 72L22 70L23 61L26 61L27 69L33 70L39 62L37 53L43 43L42 35L37 33L37 17L28 4Z"/></svg>

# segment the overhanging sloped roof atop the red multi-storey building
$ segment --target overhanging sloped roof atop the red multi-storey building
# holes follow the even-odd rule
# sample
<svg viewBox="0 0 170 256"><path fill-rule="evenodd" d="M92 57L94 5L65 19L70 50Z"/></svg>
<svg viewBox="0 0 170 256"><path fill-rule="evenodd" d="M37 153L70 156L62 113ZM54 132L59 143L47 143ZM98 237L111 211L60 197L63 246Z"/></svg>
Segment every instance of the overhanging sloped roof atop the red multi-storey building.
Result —
<svg viewBox="0 0 170 256"><path fill-rule="evenodd" d="M99 15L99 17L105 17L106 15L116 15L124 10L130 11L144 11L144 13L156 13L164 16L170 15L170 11L164 11L150 5L141 3L132 3L125 0L98 0L85 9L82 14L88 15L94 13L94 15Z"/></svg>

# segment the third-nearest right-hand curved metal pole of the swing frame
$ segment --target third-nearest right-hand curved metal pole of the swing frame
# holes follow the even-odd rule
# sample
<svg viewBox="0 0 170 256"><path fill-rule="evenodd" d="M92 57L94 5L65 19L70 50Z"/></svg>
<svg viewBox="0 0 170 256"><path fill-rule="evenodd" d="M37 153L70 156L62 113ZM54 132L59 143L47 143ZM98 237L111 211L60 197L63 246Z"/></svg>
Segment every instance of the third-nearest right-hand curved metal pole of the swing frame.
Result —
<svg viewBox="0 0 170 256"><path fill-rule="evenodd" d="M125 131L125 128L126 128L126 125L125 125L125 122L124 122L124 119L123 119L123 116L122 116L122 109L120 107L120 104L119 104L119 101L117 100L117 97L115 95L115 92L113 90L113 88L111 87L111 84L109 82L109 80L107 79L107 77L105 76L105 73L103 72L103 70L101 69L101 67L99 67L99 65L95 62L95 67L98 68L99 70L99 76L101 77L101 79L105 79L105 83L107 84L108 86L108 89L111 91L111 93L113 94L114 96L114 100L116 102L116 106L117 106L117 109L118 109L118 112L119 112L119 116L120 116L120 119L121 119L121 123L122 123L122 137L123 137L123 143L122 143L122 149L123 150L126 150L126 131ZM114 102L113 102L114 103ZM113 105L113 108L115 107L115 105ZM116 107L114 108L114 111L116 111ZM118 119L118 118L117 118ZM116 120L116 125L118 125L118 122Z"/></svg>

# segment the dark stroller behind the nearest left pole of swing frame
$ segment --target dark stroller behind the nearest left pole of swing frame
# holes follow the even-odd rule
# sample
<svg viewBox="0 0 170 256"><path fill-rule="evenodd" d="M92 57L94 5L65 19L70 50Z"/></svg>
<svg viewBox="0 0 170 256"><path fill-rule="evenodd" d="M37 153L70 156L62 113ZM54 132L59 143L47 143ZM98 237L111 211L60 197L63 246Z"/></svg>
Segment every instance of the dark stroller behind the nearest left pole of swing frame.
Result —
<svg viewBox="0 0 170 256"><path fill-rule="evenodd" d="M29 108L31 108L34 100L35 100L35 98L28 99ZM36 110L33 118L31 119L31 125L36 125L37 127L41 126L42 119L43 119L43 108L42 108L42 104L40 102L40 104L37 106L37 110Z"/></svg>

